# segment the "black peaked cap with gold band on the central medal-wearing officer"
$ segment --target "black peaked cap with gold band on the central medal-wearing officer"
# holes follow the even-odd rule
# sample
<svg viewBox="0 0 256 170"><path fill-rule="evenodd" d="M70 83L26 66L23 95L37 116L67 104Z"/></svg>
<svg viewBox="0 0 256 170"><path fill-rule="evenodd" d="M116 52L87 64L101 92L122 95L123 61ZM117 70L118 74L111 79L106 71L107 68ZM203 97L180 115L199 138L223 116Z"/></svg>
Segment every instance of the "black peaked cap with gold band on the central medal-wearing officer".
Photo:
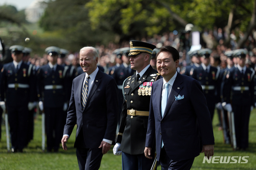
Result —
<svg viewBox="0 0 256 170"><path fill-rule="evenodd" d="M137 40L130 40L130 53L128 56L136 56L140 55L142 52L152 54L153 49L156 48L155 45L145 43L142 41L137 41Z"/></svg>

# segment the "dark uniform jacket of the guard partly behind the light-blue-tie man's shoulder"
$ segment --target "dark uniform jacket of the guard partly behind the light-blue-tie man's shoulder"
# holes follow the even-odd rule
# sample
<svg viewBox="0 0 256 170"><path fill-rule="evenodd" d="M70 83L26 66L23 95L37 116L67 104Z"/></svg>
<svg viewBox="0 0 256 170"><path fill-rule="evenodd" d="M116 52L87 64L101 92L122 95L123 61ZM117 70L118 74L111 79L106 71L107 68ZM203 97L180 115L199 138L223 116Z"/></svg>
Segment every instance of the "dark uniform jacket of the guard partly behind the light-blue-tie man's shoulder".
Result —
<svg viewBox="0 0 256 170"><path fill-rule="evenodd" d="M201 84L209 109L214 109L215 104L220 102L219 73L220 70L212 66L210 66L210 70L207 73L202 65L193 71L192 77Z"/></svg>

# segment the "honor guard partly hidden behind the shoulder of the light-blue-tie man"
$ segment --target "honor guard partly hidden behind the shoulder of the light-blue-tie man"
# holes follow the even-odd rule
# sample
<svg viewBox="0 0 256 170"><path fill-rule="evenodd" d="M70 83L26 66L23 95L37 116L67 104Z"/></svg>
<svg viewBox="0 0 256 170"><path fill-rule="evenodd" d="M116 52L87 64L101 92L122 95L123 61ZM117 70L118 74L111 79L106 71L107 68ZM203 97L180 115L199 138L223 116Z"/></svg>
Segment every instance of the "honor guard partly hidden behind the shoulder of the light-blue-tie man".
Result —
<svg viewBox="0 0 256 170"><path fill-rule="evenodd" d="M202 86L204 96L207 100L207 106L210 111L211 120L215 110L215 104L219 101L219 73L220 70L210 66L210 49L201 49L198 51L201 65L194 69L192 77L199 81Z"/></svg>

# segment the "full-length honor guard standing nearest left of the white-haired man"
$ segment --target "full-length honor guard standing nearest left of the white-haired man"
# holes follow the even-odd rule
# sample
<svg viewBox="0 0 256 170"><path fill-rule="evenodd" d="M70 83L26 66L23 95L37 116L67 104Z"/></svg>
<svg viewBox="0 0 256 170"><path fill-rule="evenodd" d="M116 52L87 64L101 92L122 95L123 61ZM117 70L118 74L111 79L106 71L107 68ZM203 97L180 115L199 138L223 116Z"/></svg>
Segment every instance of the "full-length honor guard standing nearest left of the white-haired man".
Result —
<svg viewBox="0 0 256 170"><path fill-rule="evenodd" d="M58 152L66 120L67 68L57 64L60 49L50 46L45 49L48 64L38 69L38 97L40 110L45 111L47 152Z"/></svg>

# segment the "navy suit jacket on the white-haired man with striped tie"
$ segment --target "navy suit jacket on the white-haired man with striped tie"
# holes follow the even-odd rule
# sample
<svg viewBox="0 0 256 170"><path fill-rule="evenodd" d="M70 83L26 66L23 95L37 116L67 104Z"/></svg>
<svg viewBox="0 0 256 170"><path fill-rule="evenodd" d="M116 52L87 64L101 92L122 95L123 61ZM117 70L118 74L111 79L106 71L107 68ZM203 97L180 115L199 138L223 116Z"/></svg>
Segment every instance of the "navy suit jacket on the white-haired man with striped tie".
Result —
<svg viewBox="0 0 256 170"><path fill-rule="evenodd" d="M74 78L64 133L71 135L77 124L78 136L83 127L84 143L87 148L98 148L104 139L115 141L117 126L117 86L115 79L98 71L84 110L81 95L85 73ZM74 147L76 147L77 140Z"/></svg>

